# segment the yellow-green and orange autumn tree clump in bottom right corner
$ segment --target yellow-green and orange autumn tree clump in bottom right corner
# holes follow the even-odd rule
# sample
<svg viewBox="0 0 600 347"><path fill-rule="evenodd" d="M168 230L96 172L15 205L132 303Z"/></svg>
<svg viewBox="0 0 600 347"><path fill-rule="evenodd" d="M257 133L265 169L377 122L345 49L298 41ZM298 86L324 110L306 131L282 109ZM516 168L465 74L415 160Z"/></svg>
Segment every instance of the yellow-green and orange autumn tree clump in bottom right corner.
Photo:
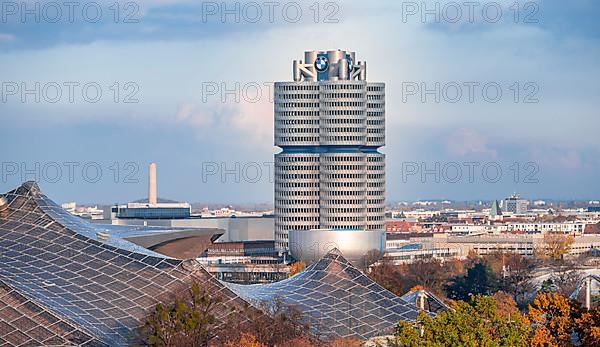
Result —
<svg viewBox="0 0 600 347"><path fill-rule="evenodd" d="M521 313L503 292L451 302L449 311L416 322L400 321L390 347L443 346L600 346L600 309L556 293L539 293Z"/></svg>

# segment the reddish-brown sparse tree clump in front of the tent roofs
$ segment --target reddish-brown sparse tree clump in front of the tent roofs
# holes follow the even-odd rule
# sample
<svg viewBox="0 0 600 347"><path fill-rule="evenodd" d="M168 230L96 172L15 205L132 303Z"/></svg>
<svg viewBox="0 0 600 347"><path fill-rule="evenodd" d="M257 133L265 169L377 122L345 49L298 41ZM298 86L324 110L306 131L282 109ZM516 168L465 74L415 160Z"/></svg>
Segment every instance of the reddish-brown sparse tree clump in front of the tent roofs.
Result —
<svg viewBox="0 0 600 347"><path fill-rule="evenodd" d="M141 337L149 346L284 346L288 341L318 341L295 307L274 299L228 308L198 284L171 304L158 304L146 318ZM320 345L320 344L317 344Z"/></svg>

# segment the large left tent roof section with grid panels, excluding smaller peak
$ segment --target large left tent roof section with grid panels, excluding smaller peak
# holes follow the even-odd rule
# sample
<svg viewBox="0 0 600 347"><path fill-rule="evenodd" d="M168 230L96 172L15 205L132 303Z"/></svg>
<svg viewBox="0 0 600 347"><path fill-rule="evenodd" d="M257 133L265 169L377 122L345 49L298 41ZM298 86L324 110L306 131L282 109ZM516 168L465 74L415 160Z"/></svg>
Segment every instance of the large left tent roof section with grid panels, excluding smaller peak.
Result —
<svg viewBox="0 0 600 347"><path fill-rule="evenodd" d="M197 282L247 306L195 260L149 251L70 215L27 182L0 207L0 345L119 346L159 302ZM109 232L102 240L97 232ZM135 227L132 233L156 233ZM225 311L225 310L223 310ZM223 314L229 314L223 312Z"/></svg>

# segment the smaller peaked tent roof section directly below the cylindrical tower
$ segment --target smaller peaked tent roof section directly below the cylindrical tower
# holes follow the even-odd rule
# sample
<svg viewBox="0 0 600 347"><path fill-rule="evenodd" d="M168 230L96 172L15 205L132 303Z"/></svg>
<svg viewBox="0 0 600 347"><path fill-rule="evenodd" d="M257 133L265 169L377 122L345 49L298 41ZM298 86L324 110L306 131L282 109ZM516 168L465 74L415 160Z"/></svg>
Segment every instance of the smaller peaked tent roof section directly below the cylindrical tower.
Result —
<svg viewBox="0 0 600 347"><path fill-rule="evenodd" d="M415 305L365 276L337 249L287 280L223 284L259 308L276 299L299 308L324 336L368 339L389 334L399 320L414 321L418 313Z"/></svg>

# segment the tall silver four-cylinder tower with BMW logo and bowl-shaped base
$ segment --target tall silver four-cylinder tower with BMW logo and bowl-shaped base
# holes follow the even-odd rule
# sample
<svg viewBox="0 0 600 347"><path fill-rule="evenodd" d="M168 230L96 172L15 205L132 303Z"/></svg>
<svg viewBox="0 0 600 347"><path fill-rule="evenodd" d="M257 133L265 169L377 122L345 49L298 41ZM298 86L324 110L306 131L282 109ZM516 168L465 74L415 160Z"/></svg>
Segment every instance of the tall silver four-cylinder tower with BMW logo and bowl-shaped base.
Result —
<svg viewBox="0 0 600 347"><path fill-rule="evenodd" d="M312 242L349 258L383 248L385 85L366 77L355 52L307 51L275 83L275 238L296 257Z"/></svg>

